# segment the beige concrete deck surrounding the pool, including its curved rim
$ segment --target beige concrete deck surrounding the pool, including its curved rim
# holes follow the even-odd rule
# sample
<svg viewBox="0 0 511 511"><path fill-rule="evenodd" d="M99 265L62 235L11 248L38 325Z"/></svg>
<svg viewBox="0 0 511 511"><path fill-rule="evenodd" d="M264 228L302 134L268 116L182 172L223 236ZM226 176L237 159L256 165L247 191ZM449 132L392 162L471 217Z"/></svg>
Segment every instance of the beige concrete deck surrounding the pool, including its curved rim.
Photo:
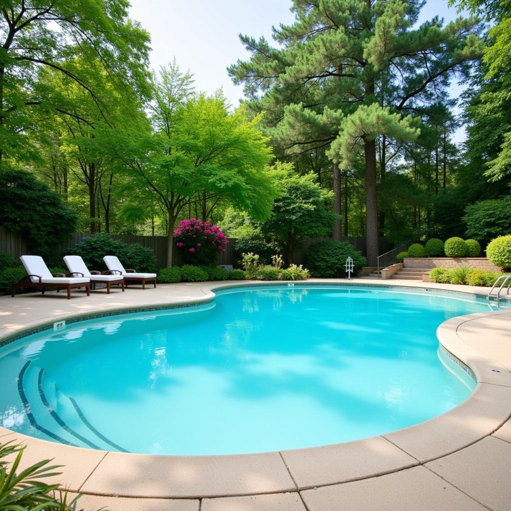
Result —
<svg viewBox="0 0 511 511"><path fill-rule="evenodd" d="M320 280L459 291L487 288L416 281ZM247 282L159 285L0 298L0 344L60 319L200 303ZM511 310L450 319L440 343L475 373L472 396L430 421L344 444L229 456L156 456L69 447L0 428L0 443L28 446L23 464L55 458L58 480L83 493L79 509L111 511L410 511L511 508Z"/></svg>

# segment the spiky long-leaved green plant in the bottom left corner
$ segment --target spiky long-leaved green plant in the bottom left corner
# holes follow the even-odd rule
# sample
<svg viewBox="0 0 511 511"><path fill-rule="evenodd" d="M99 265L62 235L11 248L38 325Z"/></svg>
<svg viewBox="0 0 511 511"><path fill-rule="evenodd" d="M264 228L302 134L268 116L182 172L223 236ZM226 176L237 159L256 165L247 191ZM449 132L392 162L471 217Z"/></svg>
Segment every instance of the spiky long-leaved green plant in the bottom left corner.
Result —
<svg viewBox="0 0 511 511"><path fill-rule="evenodd" d="M49 459L21 469L25 447L14 442L0 443L0 508L6 511L75 511L80 495L70 499L67 491L59 491L58 483L46 483L44 478L60 475L60 465ZM10 458L9 463L5 458Z"/></svg>

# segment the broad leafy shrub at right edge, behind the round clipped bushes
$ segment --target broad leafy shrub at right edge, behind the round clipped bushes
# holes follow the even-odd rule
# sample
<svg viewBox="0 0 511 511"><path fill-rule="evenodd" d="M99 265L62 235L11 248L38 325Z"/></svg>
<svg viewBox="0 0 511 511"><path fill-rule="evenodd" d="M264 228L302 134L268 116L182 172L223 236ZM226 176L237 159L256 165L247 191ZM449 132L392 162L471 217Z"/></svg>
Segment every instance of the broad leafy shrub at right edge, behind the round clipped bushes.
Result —
<svg viewBox="0 0 511 511"><path fill-rule="evenodd" d="M463 222L467 236L484 243L511 232L511 195L482 200L466 207Z"/></svg>

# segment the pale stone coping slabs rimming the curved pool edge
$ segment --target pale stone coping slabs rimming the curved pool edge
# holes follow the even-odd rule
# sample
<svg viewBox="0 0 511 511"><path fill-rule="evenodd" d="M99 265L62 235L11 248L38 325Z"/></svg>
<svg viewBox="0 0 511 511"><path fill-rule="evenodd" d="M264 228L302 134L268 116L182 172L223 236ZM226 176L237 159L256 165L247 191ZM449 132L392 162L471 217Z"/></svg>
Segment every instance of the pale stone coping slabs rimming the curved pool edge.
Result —
<svg viewBox="0 0 511 511"><path fill-rule="evenodd" d="M216 290L239 287L282 286L288 282L200 283L191 285L200 296L174 303L157 303L140 307L74 314L60 314L59 319L75 322L92 317L106 317L120 313L191 307L212 301ZM399 284L388 281L366 280L310 280L295 283L306 286L391 287L464 296L483 296L474 290L450 289L442 285L419 285L416 282ZM172 286L172 285L170 285ZM169 286L167 286L169 287ZM472 288L473 289L473 288ZM151 292L150 290L145 293ZM428 291L429 292L429 291ZM23 296L23 295L21 295ZM0 298L1 300L10 298ZM157 296L155 296L157 299ZM505 298L507 299L507 298ZM57 301L57 300L55 300ZM507 436L495 433L511 415L511 360L499 360L495 354L485 353L484 345L477 343L481 334L488 338L488 327L478 323L488 318L509 320L506 310L458 316L442 323L437 330L441 346L470 368L477 379L471 397L456 408L429 421L379 436L342 444L258 454L221 456L162 456L127 454L111 451L70 447L47 440L22 435L0 428L0 441L16 439L31 447L29 460L42 457L56 458L65 463L60 480L71 491L90 495L124 496L157 499L203 499L233 496L300 493L326 486L362 479L378 478L385 474L425 466L469 449L482 439L493 436L502 442ZM14 329L0 329L0 346L53 326L55 316L18 324ZM0 316L0 326L2 324ZM468 328L470 327L470 328ZM479 329L479 330L478 330ZM477 333L479 331L479 333ZM29 333L27 333L29 332ZM476 339L474 341L474 338ZM490 338L493 338L490 335ZM499 339L495 333L495 342ZM496 372L499 371L499 372ZM50 454L49 454L50 453ZM301 493L300 493L301 495Z"/></svg>

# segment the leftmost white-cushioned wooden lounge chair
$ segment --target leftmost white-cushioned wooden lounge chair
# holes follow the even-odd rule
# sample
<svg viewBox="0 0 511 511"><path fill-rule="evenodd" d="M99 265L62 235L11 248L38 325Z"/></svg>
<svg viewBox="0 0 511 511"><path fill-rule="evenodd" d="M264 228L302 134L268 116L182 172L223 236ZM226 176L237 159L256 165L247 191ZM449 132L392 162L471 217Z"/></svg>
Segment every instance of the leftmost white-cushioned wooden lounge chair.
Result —
<svg viewBox="0 0 511 511"><path fill-rule="evenodd" d="M71 289L84 287L87 296L90 295L90 280L88 277L66 277L63 273L50 273L48 266L39 255L22 255L19 260L27 270L28 275L12 285L12 296L18 287L40 287L42 294L47 287L67 289L67 299L71 298Z"/></svg>

